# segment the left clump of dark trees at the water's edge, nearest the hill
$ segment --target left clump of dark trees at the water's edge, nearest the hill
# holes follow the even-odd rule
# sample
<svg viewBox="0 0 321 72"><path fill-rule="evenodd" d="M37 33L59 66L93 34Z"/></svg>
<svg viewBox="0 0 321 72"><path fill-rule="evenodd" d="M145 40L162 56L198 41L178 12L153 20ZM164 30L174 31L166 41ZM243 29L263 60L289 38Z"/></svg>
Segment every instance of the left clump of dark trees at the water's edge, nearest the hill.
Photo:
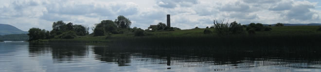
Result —
<svg viewBox="0 0 321 72"><path fill-rule="evenodd" d="M89 27L83 25L64 23L63 21L57 21L53 23L53 30L47 31L40 28L29 29L29 41L38 39L51 39L51 38L61 38L61 39L71 39L76 36L86 36L89 35Z"/></svg>

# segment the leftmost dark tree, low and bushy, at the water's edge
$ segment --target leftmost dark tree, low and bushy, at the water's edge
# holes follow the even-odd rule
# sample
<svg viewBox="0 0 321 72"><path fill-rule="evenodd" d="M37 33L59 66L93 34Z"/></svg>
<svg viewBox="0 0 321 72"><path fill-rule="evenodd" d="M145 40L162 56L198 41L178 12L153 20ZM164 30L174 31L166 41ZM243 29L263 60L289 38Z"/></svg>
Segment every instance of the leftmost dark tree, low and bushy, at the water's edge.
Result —
<svg viewBox="0 0 321 72"><path fill-rule="evenodd" d="M29 41L33 41L33 40L38 40L38 39L46 39L46 30L41 30L39 28L31 28L28 31L29 33L27 34L29 36Z"/></svg>

